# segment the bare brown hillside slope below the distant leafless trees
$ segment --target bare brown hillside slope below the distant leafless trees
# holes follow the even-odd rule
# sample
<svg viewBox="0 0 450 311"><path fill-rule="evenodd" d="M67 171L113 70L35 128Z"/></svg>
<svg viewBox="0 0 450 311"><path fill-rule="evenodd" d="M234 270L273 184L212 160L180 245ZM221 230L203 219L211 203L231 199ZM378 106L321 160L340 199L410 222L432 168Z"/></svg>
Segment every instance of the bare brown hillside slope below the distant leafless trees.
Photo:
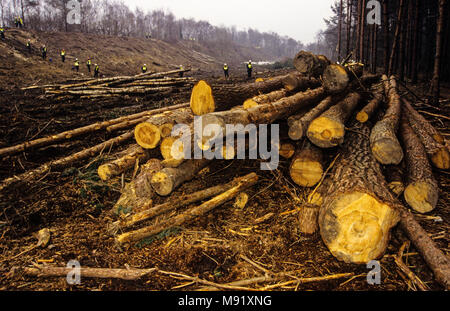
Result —
<svg viewBox="0 0 450 311"><path fill-rule="evenodd" d="M32 55L26 50L30 39ZM48 49L47 61L40 57L40 48ZM66 62L60 58L66 50ZM168 43L156 39L91 35L83 33L45 33L7 29L6 40L0 41L1 88L47 83L57 80L83 78L88 75L86 60L91 57L105 76L133 75L146 63L149 70L164 71L180 65L191 67L194 73L221 74L222 64L231 65L231 71L248 59L270 60L269 55L243 46L218 48L202 46L198 42ZM80 72L72 70L75 58L80 60ZM50 62L51 59L51 62Z"/></svg>

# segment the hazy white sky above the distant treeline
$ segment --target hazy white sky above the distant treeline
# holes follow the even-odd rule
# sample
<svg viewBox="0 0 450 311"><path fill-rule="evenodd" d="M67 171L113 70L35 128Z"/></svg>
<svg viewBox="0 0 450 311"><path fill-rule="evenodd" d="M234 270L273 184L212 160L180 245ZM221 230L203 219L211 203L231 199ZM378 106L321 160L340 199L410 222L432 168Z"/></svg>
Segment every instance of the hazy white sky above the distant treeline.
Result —
<svg viewBox="0 0 450 311"><path fill-rule="evenodd" d="M167 9L177 18L206 20L217 26L274 31L313 42L331 15L334 0L123 0L131 8Z"/></svg>

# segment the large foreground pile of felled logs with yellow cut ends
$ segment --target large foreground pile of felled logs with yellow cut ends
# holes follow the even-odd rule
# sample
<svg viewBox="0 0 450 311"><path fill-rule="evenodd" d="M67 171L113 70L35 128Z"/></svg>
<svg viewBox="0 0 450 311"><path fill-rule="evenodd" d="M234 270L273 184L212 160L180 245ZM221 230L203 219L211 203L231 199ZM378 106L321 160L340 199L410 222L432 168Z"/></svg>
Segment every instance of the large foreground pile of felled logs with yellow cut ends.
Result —
<svg viewBox="0 0 450 311"><path fill-rule="evenodd" d="M257 182L255 173L181 197L168 196L211 163L186 157L193 149L214 150L228 160L236 157L237 146L217 144L235 135L227 133L226 125L287 122L288 131L281 133L277 147L291 161L291 179L311 188L307 202L298 207L300 230L320 231L337 259L366 264L384 254L390 231L400 222L436 279L448 289L448 257L401 200L403 196L419 213L436 207L439 190L431 166L450 168L448 143L399 96L394 76L364 75L362 64L334 64L304 51L296 55L294 65L296 72L255 83L199 81L189 103L145 115L145 121L135 123L134 132L125 135L134 134L136 144L98 169L106 181L143 163L114 207L127 212L109 231L121 245L136 243L236 197L246 200L240 193ZM201 124L200 130L196 124ZM206 133L208 125L219 130ZM245 135L244 130L238 135ZM186 142L194 148L185 150ZM155 196L168 198L154 205ZM165 221L136 229L158 215L200 201Z"/></svg>

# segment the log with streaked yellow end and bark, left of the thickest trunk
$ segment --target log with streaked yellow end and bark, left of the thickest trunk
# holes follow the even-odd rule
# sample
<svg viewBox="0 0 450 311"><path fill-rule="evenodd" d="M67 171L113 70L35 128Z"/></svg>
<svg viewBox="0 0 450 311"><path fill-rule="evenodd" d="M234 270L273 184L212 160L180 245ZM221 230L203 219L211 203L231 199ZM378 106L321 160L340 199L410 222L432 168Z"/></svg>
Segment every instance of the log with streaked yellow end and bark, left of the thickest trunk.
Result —
<svg viewBox="0 0 450 311"><path fill-rule="evenodd" d="M292 180L299 186L312 187L316 185L323 175L322 150L306 142L298 150L289 167Z"/></svg>

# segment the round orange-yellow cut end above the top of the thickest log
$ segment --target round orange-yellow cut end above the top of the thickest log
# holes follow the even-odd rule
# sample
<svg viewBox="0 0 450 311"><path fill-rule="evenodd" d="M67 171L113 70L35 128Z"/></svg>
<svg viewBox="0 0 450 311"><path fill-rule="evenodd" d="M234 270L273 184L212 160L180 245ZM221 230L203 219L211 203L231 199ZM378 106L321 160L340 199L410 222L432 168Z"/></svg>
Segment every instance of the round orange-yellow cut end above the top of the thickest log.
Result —
<svg viewBox="0 0 450 311"><path fill-rule="evenodd" d="M318 147L332 148L344 141L344 126L327 117L319 117L311 122L307 136Z"/></svg>

